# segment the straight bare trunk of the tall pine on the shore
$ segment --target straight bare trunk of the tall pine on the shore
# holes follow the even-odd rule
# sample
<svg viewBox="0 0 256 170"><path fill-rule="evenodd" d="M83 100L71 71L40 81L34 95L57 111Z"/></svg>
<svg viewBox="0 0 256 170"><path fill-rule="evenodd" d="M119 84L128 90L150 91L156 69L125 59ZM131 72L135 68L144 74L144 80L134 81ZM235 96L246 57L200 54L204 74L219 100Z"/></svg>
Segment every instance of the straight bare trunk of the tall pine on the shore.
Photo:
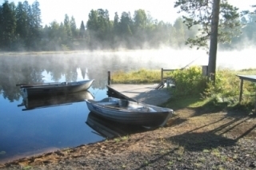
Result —
<svg viewBox="0 0 256 170"><path fill-rule="evenodd" d="M213 17L211 20L210 32L210 52L208 61L208 76L210 80L215 82L216 74L216 59L217 59L217 46L218 46L218 18L219 18L220 0L214 0L213 4Z"/></svg>

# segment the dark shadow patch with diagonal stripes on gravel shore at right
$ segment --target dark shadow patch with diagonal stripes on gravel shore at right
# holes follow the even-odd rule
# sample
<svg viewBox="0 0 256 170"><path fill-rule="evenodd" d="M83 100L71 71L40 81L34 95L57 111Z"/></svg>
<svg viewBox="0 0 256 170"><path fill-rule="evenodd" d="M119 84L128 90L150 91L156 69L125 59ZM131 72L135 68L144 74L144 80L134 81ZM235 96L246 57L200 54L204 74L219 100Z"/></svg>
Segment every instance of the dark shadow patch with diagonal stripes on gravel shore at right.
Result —
<svg viewBox="0 0 256 170"><path fill-rule="evenodd" d="M227 121L222 124L226 117L218 121L211 122L208 125L202 125L201 127L194 128L188 132L185 132L178 136L171 136L169 139L176 144L179 144L186 148L189 151L203 151L204 149L218 148L218 147L226 147L233 146L239 139L248 135L250 132L254 131L256 125L251 126L246 129L242 134L235 136L234 139L229 139L224 137L227 132L234 130L234 128L239 128L239 125L242 125L246 121L250 119L250 117L246 117L244 119L235 118L234 120ZM218 124L220 123L220 124ZM210 125L217 126L208 132L195 132L202 128L207 128Z"/></svg>

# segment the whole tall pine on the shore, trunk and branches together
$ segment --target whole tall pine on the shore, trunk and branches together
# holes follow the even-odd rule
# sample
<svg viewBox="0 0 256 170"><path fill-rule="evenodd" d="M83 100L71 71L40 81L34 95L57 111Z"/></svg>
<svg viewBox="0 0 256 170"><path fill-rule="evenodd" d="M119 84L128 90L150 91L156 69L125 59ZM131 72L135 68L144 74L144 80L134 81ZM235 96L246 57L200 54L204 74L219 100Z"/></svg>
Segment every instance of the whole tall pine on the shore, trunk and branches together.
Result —
<svg viewBox="0 0 256 170"><path fill-rule="evenodd" d="M187 44L208 49L210 41L208 75L215 81L218 42L230 42L232 36L241 29L238 8L231 6L227 0L177 0L174 7L180 7L181 11L188 14L183 16L188 28L202 26L201 34L189 38Z"/></svg>

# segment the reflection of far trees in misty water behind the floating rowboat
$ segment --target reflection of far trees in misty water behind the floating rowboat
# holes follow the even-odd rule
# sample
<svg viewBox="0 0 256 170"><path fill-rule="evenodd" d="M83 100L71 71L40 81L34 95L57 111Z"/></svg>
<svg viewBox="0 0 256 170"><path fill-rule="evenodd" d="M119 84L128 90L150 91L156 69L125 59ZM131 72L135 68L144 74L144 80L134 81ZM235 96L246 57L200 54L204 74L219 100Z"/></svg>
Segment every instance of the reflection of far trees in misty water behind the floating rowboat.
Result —
<svg viewBox="0 0 256 170"><path fill-rule="evenodd" d="M143 64L143 63L140 63ZM146 64L146 63L144 63ZM105 89L107 84L107 72L116 70L128 71L139 66L136 61L126 60L126 56L113 55L111 53L73 53L58 55L18 55L0 57L0 90L3 97L10 101L18 100L20 90L16 84L42 83L42 73L50 74L51 81L77 81L77 69L82 70L82 76L86 75L94 79L92 88Z"/></svg>

